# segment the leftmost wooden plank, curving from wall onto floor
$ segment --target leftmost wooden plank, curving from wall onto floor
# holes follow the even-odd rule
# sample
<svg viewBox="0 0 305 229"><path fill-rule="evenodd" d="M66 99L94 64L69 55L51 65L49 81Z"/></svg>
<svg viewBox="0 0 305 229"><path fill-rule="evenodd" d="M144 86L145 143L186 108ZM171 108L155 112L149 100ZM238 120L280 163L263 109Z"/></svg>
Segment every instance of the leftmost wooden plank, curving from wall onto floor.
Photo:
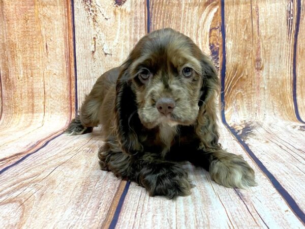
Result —
<svg viewBox="0 0 305 229"><path fill-rule="evenodd" d="M1 170L65 128L75 93L70 3L1 1L0 7Z"/></svg>

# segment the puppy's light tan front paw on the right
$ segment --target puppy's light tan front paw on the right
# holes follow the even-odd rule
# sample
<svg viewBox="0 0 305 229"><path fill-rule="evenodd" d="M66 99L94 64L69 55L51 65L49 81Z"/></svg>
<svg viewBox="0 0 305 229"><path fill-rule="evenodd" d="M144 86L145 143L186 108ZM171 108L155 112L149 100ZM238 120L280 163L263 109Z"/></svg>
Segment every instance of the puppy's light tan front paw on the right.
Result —
<svg viewBox="0 0 305 229"><path fill-rule="evenodd" d="M256 186L254 170L239 155L225 153L211 161L209 172L218 184L229 188L248 188Z"/></svg>

